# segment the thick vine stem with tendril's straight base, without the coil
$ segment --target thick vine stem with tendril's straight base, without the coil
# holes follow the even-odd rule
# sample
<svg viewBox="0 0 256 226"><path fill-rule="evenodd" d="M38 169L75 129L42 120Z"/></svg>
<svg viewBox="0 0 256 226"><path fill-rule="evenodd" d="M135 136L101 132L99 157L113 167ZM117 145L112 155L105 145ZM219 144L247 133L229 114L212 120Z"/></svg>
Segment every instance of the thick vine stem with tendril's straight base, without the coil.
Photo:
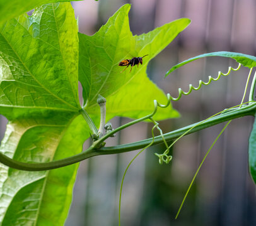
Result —
<svg viewBox="0 0 256 226"><path fill-rule="evenodd" d="M202 129L206 129L207 127L214 126L216 124L219 124L221 122L229 121L231 119L236 119L238 117L243 116L254 116L256 111L256 103L247 105L246 107L242 107L241 109L235 109L231 110L229 112L225 112L224 114L221 114L219 116L212 117L211 119L207 121L197 122L195 124L192 124L190 126L183 127L181 129L177 129L172 132L168 132L164 134L166 141L172 141L173 139L177 139L180 137L184 132L191 129L191 127L194 127L191 129L187 134L191 134L193 132L201 131ZM144 119L148 119L148 116L143 117L142 119L138 119L136 121L130 122L129 124L135 124L135 122L143 121ZM199 124L199 126L195 126ZM108 136L110 136L112 133L115 133L117 131L120 131L120 128L127 127L127 124L124 126L121 126L112 132L109 132L107 135L103 136L102 141L107 139ZM186 135L187 135L186 134ZM99 139L99 141L100 141ZM113 147L107 147L107 148L101 148L101 149L95 149L95 146L91 146L90 148L83 151L83 153L76 154L74 156L71 156L69 158L64 158L61 160L52 161L49 163L22 163L20 161L16 161L14 159L9 158L3 153L0 153L0 162L3 164L6 164L7 166L11 168L16 168L18 170L26 170L26 171L44 171L44 170L52 170L55 168L61 168L63 166L68 166L69 164L78 163L79 161L82 161L84 159L90 158L92 156L98 156L102 154L117 154L117 153L125 153L127 151L134 151L137 149L144 148L148 146L148 144L152 143L153 139L145 139L143 141L138 141L131 144L122 144L119 146L113 146ZM97 142L97 141L96 141ZM163 143L163 137L157 136L154 137L154 144L160 144Z"/></svg>

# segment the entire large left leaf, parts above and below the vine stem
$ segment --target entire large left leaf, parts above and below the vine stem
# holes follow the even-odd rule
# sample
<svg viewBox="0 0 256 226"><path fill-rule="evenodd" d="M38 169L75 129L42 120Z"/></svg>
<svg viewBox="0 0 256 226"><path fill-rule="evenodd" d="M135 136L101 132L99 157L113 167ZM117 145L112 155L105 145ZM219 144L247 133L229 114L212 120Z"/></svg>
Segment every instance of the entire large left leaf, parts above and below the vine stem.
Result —
<svg viewBox="0 0 256 226"><path fill-rule="evenodd" d="M78 100L78 30L71 4L47 4L0 28L1 152L46 162L82 151L89 136ZM1 225L63 225L78 164L27 172L0 164Z"/></svg>

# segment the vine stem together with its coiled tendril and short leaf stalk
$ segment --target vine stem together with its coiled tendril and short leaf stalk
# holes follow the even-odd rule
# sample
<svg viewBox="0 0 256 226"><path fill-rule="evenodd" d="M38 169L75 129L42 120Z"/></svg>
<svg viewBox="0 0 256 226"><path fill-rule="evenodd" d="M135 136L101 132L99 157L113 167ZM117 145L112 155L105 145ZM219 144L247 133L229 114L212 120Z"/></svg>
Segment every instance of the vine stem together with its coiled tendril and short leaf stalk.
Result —
<svg viewBox="0 0 256 226"><path fill-rule="evenodd" d="M198 89L201 88L202 84L208 85L209 83L211 83L211 80L218 80L219 77L221 77L221 75L226 76L231 72L231 70L238 70L240 67L241 67L240 64L235 69L232 68L232 67L229 67L227 73L219 72L217 78L212 78L211 76L209 76L209 81L207 83L202 82L200 80L199 81L199 87L194 88L194 87L192 87L192 85L190 85L189 86L190 87L189 92L187 92L187 93L185 93L181 89L179 89L180 94L177 97L177 99L174 99L173 97L171 97L170 94L167 94L168 102L167 102L166 105L162 105L162 104L158 103L156 100L154 100L154 111L151 114L149 114L148 116L144 116L141 119L137 119L137 120L134 120L134 121L129 122L127 124L124 124L123 126L120 126L117 129L113 129L113 131L108 132L107 134L105 134L105 136L102 136L102 137L100 137L100 139L96 140L90 146L90 148L83 151L83 153L79 153L79 154L76 154L76 155L71 156L69 158L64 158L64 159L56 160L56 161L51 161L51 162L48 162L48 163L23 163L23 162L20 162L20 161L16 161L15 159L11 159L8 156L4 155L3 153L0 153L0 162L3 163L3 164L6 164L7 166L9 166L11 168L16 168L18 170L26 170L26 171L52 170L52 169L55 169L55 168L61 168L63 166L68 166L69 164L78 163L79 161L83 161L84 159L90 158L92 156L98 156L98 155L103 155L103 154L125 153L127 151L134 151L136 149L145 148L146 146L151 144L151 142L153 142L152 145L154 145L154 144L163 143L163 142L165 142L165 140L166 141L172 141L173 139L177 139L178 137L182 137L182 136L185 136L187 134L191 134L193 132L200 131L200 130L205 129L207 127L211 127L211 126L214 126L214 125L219 124L221 122L228 121L228 120L231 120L231 119L235 119L237 117L254 116L255 110L256 110L255 102L253 102L253 104L243 106L241 109L230 110L230 111L225 112L224 114L221 114L221 115L218 116L218 114L221 113L221 112L219 112L218 114L214 115L214 117L210 117L209 119L206 119L204 121L197 122L195 124L183 127L181 129L177 129L176 131L168 132L164 135L161 134L161 136L154 137L154 141L153 141L152 138L149 138L149 139L145 139L143 141L138 141L138 142L131 143L131 144L122 144L122 145L119 145L119 146L99 148L99 147L102 147L101 144L103 143L103 141L105 141L108 137L113 136L116 132L118 132L122 129L125 129L126 127L132 126L132 125L134 125L138 122L141 122L141 121L144 121L146 119L150 119L151 117L153 117L154 114L156 114L156 111L157 111L158 107L162 107L162 108L168 107L171 100L178 100L178 99L180 99L182 94L188 95L188 94L190 94L192 89L198 90ZM252 85L255 85L255 80L253 79L253 81L254 81L254 83ZM251 91L252 91L252 87L251 87ZM240 105L238 105L238 106L240 106ZM83 115L86 122L88 122L88 125L90 126L90 129L93 132L93 134L98 135L98 130L96 129L95 124L91 120L91 118L88 115L88 113L86 112L86 110L81 109L81 114ZM163 139L163 137L165 139Z"/></svg>

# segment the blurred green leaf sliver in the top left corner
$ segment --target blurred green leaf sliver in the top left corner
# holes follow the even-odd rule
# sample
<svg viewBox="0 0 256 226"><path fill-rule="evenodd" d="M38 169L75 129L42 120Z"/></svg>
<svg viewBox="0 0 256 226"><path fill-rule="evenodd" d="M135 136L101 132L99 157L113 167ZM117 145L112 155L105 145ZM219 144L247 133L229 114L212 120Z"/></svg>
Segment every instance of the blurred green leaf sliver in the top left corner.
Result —
<svg viewBox="0 0 256 226"><path fill-rule="evenodd" d="M69 1L71 0L0 0L0 24L42 4Z"/></svg>

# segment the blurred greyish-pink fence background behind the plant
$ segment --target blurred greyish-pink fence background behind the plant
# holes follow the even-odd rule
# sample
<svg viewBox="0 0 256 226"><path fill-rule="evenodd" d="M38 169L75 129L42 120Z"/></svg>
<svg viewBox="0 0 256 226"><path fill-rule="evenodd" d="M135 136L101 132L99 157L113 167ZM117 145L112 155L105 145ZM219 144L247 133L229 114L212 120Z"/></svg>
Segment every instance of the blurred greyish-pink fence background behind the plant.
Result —
<svg viewBox="0 0 256 226"><path fill-rule="evenodd" d="M79 31L93 35L117 9L131 3L129 13L134 35L147 33L174 19L190 18L192 23L154 60L148 76L174 97L178 88L226 73L237 63L227 58L197 60L163 80L165 72L178 62L211 51L237 51L256 55L255 0L86 0L73 2L79 16ZM232 72L189 96L173 102L181 117L160 123L163 132L206 119L216 112L240 104L248 68ZM254 73L254 72L253 72ZM248 95L247 95L248 97ZM114 127L129 119L115 118ZM187 200L175 220L178 207L202 158L224 124L183 137L173 148L170 164L158 164L154 146L132 163L124 180L121 225L256 225L255 185L248 173L248 136L252 117L235 119L211 150ZM120 132L107 145L130 143L150 137L152 124L138 124ZM88 144L84 144L88 146ZM136 151L100 156L83 161L74 186L66 226L118 225L119 189L124 170Z"/></svg>

